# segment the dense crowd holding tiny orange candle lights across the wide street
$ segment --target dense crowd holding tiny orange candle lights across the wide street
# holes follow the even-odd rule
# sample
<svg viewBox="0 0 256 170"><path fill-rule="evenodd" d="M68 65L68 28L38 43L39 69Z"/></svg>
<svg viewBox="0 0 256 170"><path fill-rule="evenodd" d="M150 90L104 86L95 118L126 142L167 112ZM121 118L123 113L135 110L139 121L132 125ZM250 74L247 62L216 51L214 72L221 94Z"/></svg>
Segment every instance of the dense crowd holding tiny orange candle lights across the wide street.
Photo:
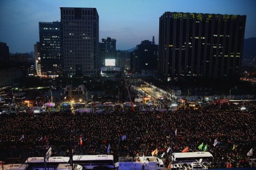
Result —
<svg viewBox="0 0 256 170"><path fill-rule="evenodd" d="M241 110L242 105L247 107ZM208 145L214 156L213 166L224 168L229 159L232 166L247 161L247 153L256 146L256 105L255 103L211 105L208 108L181 107L173 112L113 111L107 114L43 113L1 115L1 146L50 145L66 151L70 146L79 146L81 154L108 154L115 156L151 156L158 149L157 156L171 146L173 134L174 152L188 147L188 152L202 151L201 143ZM177 133L175 134L175 130ZM21 137L24 135L22 140ZM126 135L126 139L121 137ZM82 138L82 145L80 145ZM233 138L233 140L232 140ZM218 145L213 146L214 140ZM146 147L141 147L145 143ZM235 148L233 150L233 143ZM68 154L68 152L67 152ZM253 153L255 157L255 152ZM243 166L240 163L240 166Z"/></svg>

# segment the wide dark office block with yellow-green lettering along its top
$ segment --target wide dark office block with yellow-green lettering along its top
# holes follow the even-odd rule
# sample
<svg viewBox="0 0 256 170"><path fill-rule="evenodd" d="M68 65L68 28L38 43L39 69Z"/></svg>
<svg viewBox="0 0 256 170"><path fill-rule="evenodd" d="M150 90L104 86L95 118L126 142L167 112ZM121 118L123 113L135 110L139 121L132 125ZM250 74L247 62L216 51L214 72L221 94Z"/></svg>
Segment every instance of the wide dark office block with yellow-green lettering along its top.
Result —
<svg viewBox="0 0 256 170"><path fill-rule="evenodd" d="M239 79L246 16L165 12L159 18L163 80Z"/></svg>

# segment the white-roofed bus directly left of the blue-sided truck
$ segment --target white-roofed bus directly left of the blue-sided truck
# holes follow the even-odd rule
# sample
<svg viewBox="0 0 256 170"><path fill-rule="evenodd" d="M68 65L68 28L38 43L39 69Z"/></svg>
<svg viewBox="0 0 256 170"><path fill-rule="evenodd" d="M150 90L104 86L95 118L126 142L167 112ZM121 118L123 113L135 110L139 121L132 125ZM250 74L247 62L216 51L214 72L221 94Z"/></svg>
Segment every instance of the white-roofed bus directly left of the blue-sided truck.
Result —
<svg viewBox="0 0 256 170"><path fill-rule="evenodd" d="M93 167L115 168L114 156L110 154L74 155L73 163L80 164L85 169L93 169Z"/></svg>

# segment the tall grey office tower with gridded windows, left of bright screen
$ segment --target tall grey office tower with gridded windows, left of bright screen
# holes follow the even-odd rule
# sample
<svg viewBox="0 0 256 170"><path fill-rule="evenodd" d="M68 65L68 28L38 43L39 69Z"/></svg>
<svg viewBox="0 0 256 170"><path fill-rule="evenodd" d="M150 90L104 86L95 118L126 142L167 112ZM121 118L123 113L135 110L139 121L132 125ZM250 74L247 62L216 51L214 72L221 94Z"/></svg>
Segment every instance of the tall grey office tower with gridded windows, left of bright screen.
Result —
<svg viewBox="0 0 256 170"><path fill-rule="evenodd" d="M68 76L99 75L99 15L96 8L61 9L63 68Z"/></svg>

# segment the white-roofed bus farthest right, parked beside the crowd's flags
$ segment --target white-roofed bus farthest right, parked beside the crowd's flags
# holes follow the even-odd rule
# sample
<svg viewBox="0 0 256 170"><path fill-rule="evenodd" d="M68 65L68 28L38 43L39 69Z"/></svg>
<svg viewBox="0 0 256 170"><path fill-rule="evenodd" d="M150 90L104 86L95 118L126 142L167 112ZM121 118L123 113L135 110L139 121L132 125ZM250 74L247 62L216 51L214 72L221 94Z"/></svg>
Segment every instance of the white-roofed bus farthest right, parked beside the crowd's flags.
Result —
<svg viewBox="0 0 256 170"><path fill-rule="evenodd" d="M207 166L213 162L213 155L210 152L181 152L173 153L174 163L189 166L190 163L203 159L202 163Z"/></svg>

